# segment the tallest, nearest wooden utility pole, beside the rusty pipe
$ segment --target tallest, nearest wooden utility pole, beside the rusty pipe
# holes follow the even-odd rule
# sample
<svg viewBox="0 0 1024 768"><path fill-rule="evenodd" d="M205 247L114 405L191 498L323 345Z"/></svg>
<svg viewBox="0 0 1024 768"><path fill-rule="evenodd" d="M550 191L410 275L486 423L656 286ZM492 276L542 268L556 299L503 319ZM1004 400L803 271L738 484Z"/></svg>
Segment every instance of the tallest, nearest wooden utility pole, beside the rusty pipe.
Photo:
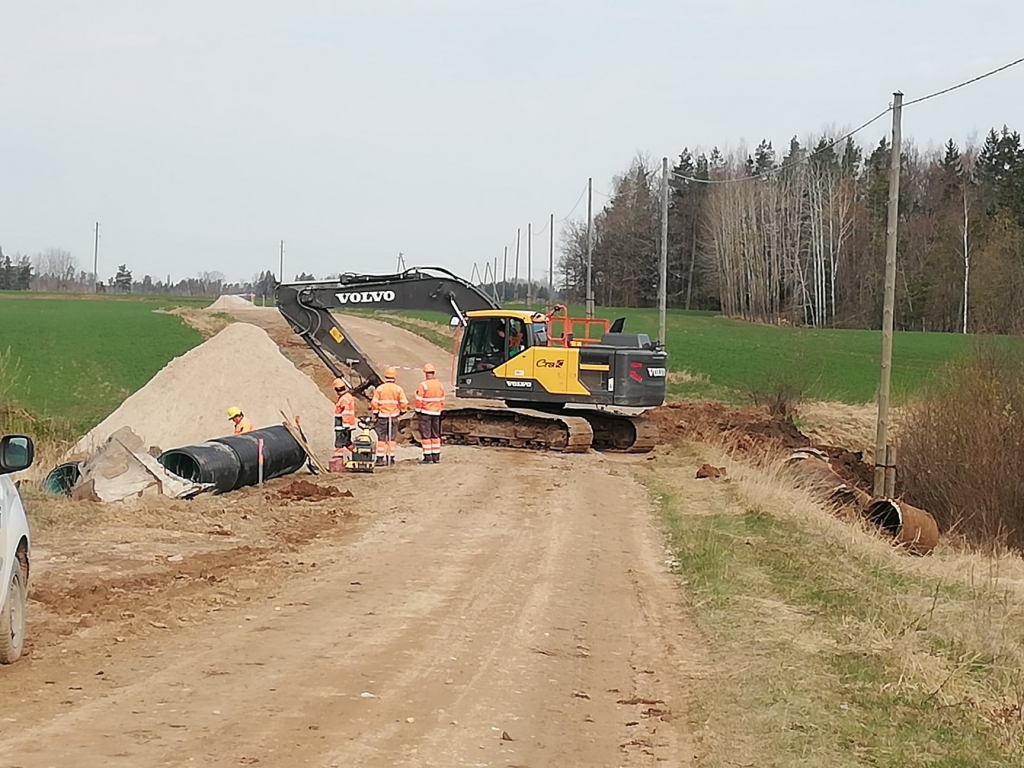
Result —
<svg viewBox="0 0 1024 768"><path fill-rule="evenodd" d="M882 312L882 379L879 382L879 425L874 439L874 495L886 492L889 464L889 382L893 359L893 306L896 303L896 225L899 220L899 166L903 94L893 93L893 141L889 164L889 224L886 227L886 293Z"/></svg>

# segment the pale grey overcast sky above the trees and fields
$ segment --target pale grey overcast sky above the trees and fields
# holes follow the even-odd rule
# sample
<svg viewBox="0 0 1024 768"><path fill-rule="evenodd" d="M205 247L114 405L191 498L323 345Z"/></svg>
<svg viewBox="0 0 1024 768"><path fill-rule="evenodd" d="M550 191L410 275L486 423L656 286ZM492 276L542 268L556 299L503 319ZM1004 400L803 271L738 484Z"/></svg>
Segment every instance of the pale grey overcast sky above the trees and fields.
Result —
<svg viewBox="0 0 1024 768"><path fill-rule="evenodd" d="M281 240L287 279L399 252L468 278L517 227L525 263L532 223L546 279L588 177L596 209L638 153L853 128L1024 55L1022 28L1020 0L0 0L0 247L91 270L98 221L101 278L276 273ZM903 135L1004 124L1024 65Z"/></svg>

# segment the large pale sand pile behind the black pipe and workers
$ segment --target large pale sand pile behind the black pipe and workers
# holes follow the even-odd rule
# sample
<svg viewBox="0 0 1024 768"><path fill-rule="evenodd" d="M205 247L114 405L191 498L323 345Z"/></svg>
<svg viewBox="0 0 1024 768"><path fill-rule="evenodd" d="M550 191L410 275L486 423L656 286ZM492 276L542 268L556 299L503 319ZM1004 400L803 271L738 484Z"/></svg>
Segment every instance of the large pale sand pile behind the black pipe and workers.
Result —
<svg viewBox="0 0 1024 768"><path fill-rule="evenodd" d="M223 298L223 297L221 297ZM176 357L85 435L74 453L93 451L122 427L162 450L231 434L227 409L238 406L259 427L299 416L317 457L334 445L334 403L285 357L266 332L234 323Z"/></svg>

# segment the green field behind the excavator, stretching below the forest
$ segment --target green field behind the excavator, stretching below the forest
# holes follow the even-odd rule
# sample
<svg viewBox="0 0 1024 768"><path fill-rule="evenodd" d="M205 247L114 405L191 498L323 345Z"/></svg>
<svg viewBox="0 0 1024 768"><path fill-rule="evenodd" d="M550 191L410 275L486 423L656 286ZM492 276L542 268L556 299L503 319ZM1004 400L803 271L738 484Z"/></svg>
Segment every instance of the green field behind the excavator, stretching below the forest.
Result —
<svg viewBox="0 0 1024 768"><path fill-rule="evenodd" d="M583 316L580 306L572 316ZM437 312L408 312L447 323ZM598 307L598 316L626 317L626 330L657 336L656 309ZM582 329L580 329L582 331ZM669 370L695 381L670 379L677 397L711 397L738 402L772 382L796 385L807 397L868 402L879 386L882 334L879 331L779 328L729 319L713 312L672 310L667 317ZM973 337L957 334L897 333L893 340L892 391L896 401L912 394L950 358L967 352ZM1013 340L1013 343L1022 343Z"/></svg>

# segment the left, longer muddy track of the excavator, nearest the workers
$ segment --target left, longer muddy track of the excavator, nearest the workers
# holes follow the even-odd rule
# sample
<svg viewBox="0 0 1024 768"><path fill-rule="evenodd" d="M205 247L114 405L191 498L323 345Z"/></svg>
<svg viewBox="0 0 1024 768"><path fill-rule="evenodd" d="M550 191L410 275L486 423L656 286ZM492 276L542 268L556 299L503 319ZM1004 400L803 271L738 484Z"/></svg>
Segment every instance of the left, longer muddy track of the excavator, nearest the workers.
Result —
<svg viewBox="0 0 1024 768"><path fill-rule="evenodd" d="M454 445L500 445L563 454L586 453L594 440L590 423L579 416L511 408L445 411L441 434Z"/></svg>

